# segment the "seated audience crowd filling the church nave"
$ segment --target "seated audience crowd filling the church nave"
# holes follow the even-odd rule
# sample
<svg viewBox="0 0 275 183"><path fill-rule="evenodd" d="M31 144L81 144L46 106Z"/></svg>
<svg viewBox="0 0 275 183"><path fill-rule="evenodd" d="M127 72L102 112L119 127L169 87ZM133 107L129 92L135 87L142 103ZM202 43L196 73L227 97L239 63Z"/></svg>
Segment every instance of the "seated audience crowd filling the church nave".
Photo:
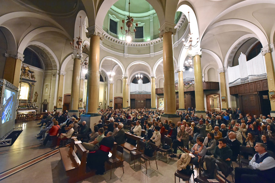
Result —
<svg viewBox="0 0 275 183"><path fill-rule="evenodd" d="M93 129L89 129L85 121L78 121L78 117L67 115L68 111L56 112L44 115L40 125L40 131L36 135L41 138L45 146L49 139L52 140L52 147L58 148L61 141L75 136L82 140L82 145L90 152L87 164L97 169L97 174L103 174L104 164L97 166L92 161L102 163L98 160L102 154L107 154L112 148L113 142L117 144L130 143L137 145L134 139L127 139L126 129L130 134L138 137L145 144L154 143L156 146L163 145L164 138L172 139L171 158L177 157L178 147L187 148L194 154L193 164L198 166L199 160L204 155L210 155L221 159L228 167L231 161L237 161L239 154L248 159L248 154L240 151L240 146L253 149L254 157L249 163L249 170L236 168L236 182L255 182L255 178L269 180L271 170L275 169L275 160L272 155L275 153L275 118L270 115L249 114L242 115L240 109L229 108L226 111L206 111L206 115L198 117L193 108L185 111L177 111L181 121L177 123L171 120L161 120L162 110L150 109L106 109L101 110L101 120ZM85 110L79 111L79 116ZM238 116L237 116L238 115ZM237 118L238 117L238 118ZM44 125L46 123L46 125ZM126 128L127 127L127 128ZM106 138L106 139L105 139ZM191 145L189 148L189 142ZM104 157L106 158L106 157ZM269 162L274 162L269 164ZM252 171L253 170L253 171ZM274 171L274 170L273 170ZM272 173L271 173L272 174ZM249 180L249 181L248 181Z"/></svg>

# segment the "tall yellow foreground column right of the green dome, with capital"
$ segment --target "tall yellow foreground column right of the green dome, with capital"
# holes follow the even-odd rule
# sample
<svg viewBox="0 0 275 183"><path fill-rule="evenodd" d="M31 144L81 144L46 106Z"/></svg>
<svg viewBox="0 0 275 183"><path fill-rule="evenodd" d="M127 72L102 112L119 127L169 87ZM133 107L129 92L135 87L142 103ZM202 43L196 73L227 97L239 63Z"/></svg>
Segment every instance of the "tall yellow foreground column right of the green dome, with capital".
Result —
<svg viewBox="0 0 275 183"><path fill-rule="evenodd" d="M180 118L176 115L174 53L172 39L172 35L176 33L174 27L174 23L164 23L159 29L160 37L163 37L164 115L162 115L162 119L171 119L173 122L178 122L180 121Z"/></svg>

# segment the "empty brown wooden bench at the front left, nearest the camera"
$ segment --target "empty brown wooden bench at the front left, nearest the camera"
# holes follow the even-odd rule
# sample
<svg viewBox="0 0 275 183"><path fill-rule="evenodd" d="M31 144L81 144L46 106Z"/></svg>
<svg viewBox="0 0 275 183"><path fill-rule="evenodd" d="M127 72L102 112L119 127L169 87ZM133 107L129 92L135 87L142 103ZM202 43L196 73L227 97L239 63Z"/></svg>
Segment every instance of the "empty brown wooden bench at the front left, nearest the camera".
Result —
<svg viewBox="0 0 275 183"><path fill-rule="evenodd" d="M87 150L81 143L75 143L76 141L78 141L77 138L73 136L69 147L59 148L61 160L66 174L69 176L69 183L75 183L95 175L94 170L86 172ZM76 152L81 155L81 160L77 157Z"/></svg>

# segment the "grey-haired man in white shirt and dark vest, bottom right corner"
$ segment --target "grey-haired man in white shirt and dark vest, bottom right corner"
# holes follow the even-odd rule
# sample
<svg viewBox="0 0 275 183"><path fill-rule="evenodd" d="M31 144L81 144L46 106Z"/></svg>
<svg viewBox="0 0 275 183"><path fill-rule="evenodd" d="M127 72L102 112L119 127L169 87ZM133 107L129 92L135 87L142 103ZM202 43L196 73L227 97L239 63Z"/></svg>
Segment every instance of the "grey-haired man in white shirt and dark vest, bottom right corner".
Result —
<svg viewBox="0 0 275 183"><path fill-rule="evenodd" d="M266 145L256 143L257 152L250 160L248 168L235 168L236 183L271 183L275 179L275 160L267 153Z"/></svg>

